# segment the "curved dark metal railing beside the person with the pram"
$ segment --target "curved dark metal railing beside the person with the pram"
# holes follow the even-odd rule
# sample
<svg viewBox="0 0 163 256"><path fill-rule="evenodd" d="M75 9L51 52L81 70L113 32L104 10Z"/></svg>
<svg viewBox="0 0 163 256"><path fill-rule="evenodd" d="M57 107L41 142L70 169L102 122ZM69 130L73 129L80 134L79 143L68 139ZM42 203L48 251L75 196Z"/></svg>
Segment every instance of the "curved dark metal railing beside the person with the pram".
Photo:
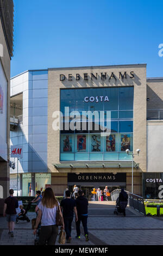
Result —
<svg viewBox="0 0 163 256"><path fill-rule="evenodd" d="M116 201L120 195L120 192L121 192L121 190L112 191L110 193L111 200ZM137 194L132 194L128 191L126 191L126 192L128 194L128 205L130 207L133 207L134 210L139 211L141 214L146 216L146 209L145 209L145 204L144 204L143 198L140 196L137 196Z"/></svg>

